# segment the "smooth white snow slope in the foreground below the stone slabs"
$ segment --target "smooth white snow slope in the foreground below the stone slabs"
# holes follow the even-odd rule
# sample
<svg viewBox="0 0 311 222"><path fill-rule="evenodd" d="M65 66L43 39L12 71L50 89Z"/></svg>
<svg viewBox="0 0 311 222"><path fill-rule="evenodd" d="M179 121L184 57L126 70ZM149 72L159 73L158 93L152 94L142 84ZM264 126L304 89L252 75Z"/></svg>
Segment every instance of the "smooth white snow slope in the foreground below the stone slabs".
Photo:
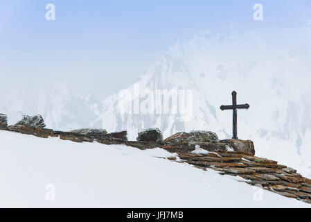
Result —
<svg viewBox="0 0 311 222"><path fill-rule="evenodd" d="M159 158L172 156L161 148L6 131L0 141L0 207L310 207L269 191L258 201L261 189ZM55 201L46 200L47 185L55 188Z"/></svg>

